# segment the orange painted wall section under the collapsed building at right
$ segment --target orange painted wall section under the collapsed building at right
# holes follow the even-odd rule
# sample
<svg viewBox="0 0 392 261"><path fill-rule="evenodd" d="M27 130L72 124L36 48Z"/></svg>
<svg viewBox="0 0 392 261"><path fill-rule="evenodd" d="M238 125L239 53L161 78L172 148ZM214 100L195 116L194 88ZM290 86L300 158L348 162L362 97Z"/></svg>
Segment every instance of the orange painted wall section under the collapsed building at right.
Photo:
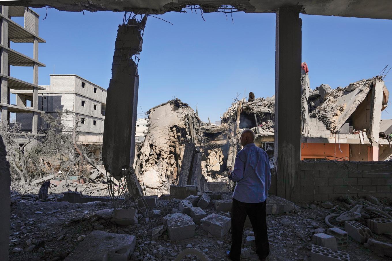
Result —
<svg viewBox="0 0 392 261"><path fill-rule="evenodd" d="M302 143L301 160L304 158L324 158L326 156L335 156L344 159L350 159L350 145L338 143ZM329 159L334 159L330 157Z"/></svg>

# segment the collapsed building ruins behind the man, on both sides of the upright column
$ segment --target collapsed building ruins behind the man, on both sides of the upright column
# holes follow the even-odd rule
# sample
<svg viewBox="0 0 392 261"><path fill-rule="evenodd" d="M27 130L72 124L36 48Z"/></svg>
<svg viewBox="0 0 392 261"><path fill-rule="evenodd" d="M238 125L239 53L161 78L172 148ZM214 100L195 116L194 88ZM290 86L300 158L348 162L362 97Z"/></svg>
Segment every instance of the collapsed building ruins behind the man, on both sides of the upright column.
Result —
<svg viewBox="0 0 392 261"><path fill-rule="evenodd" d="M377 161L392 153L392 122L381 120L389 96L382 76L345 88L321 84L312 90L309 75L303 71L301 85L301 159ZM147 114L148 131L136 148L134 163L147 195L169 194L170 185L195 185L199 191L231 190L226 171L234 167L241 149L240 133L245 129L254 131L255 143L269 155L275 174L274 96L255 98L250 92L248 100L236 100L223 113L221 125L201 121L178 99L162 103Z"/></svg>

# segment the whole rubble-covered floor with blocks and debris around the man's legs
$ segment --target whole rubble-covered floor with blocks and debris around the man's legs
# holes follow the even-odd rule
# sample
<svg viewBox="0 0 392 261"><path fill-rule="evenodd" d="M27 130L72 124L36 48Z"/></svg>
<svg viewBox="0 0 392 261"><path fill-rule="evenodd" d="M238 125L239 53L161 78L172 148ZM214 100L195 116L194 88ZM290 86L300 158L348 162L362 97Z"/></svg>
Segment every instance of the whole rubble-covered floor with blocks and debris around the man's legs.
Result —
<svg viewBox="0 0 392 261"><path fill-rule="evenodd" d="M189 260L196 260L196 256L208 258L200 260L227 260L232 194L187 191L171 191L183 199L173 195L146 197L145 207L141 201L119 207L111 201L72 204L21 199L11 207L10 260L72 261L88 256L91 260L149 261L187 255L192 257ZM294 205L269 197L269 260L385 260L385 256L392 256L390 219L367 219L363 213L343 222L342 228L334 228L328 227L325 218L340 216L357 205L391 215L391 203L391 199L368 196ZM254 244L247 219L243 259L257 260Z"/></svg>

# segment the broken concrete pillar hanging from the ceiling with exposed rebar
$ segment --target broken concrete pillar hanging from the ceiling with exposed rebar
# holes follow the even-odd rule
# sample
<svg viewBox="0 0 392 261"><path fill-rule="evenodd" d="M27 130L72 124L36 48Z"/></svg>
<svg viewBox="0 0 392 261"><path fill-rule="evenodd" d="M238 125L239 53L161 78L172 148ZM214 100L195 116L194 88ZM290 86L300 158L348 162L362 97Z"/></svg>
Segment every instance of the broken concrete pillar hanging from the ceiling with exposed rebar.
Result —
<svg viewBox="0 0 392 261"><path fill-rule="evenodd" d="M133 165L139 75L135 54L142 51L142 35L147 16L141 22L129 20L118 26L114 46L112 78L107 89L102 160L114 178L123 176L123 167Z"/></svg>

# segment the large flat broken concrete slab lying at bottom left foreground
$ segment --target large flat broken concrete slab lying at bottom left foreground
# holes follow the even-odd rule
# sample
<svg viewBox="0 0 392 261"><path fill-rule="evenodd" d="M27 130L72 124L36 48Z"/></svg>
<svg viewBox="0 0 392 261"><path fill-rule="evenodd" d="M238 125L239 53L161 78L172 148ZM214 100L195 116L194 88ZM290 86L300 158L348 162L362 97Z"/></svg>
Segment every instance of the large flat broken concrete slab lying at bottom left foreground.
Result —
<svg viewBox="0 0 392 261"><path fill-rule="evenodd" d="M80 241L64 261L116 260L127 261L136 246L136 237L94 230Z"/></svg>

